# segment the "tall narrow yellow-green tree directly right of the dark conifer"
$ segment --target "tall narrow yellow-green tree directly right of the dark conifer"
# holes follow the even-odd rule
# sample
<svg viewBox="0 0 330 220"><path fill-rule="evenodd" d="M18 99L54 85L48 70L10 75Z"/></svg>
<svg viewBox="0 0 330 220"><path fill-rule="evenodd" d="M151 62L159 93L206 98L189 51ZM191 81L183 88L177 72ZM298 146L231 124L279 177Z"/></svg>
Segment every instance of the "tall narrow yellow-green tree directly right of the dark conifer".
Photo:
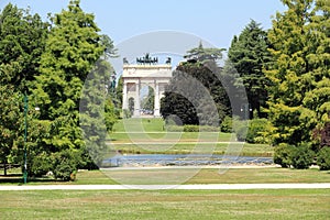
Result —
<svg viewBox="0 0 330 220"><path fill-rule="evenodd" d="M306 46L312 0L282 0L288 7L277 13L268 32L272 64L265 72L268 87L268 116L274 125L274 144L296 145L310 141L309 130L300 121L306 92L310 91L310 54Z"/></svg>

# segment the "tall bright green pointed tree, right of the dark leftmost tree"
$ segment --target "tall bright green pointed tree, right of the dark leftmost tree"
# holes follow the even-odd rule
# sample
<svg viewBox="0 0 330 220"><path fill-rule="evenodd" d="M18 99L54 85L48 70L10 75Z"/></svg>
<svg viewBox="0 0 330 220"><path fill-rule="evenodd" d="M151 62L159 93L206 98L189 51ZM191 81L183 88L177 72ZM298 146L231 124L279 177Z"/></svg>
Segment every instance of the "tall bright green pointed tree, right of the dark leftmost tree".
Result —
<svg viewBox="0 0 330 220"><path fill-rule="evenodd" d="M33 92L42 109L40 119L51 121L45 142L52 146L52 153L70 151L67 154L70 157L76 156L77 151L85 152L79 127L80 95L86 77L105 53L105 47L94 15L85 13L78 0L72 0L68 9L55 14L51 21L41 57L41 75L36 76Z"/></svg>

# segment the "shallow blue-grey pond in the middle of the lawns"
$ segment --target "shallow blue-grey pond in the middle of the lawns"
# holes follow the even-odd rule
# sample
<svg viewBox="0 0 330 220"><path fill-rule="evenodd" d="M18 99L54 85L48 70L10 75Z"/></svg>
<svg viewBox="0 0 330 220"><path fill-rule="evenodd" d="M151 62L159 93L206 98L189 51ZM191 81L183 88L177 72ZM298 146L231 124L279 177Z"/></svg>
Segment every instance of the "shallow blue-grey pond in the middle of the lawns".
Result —
<svg viewBox="0 0 330 220"><path fill-rule="evenodd" d="M188 166L220 164L272 164L273 157L201 154L127 154L103 161L102 166Z"/></svg>

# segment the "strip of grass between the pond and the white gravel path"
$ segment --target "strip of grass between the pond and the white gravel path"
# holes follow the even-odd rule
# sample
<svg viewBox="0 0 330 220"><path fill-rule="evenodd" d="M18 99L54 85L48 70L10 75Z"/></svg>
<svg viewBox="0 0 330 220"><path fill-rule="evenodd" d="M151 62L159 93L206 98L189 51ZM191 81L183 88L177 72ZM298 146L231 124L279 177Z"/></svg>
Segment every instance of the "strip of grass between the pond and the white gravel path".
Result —
<svg viewBox="0 0 330 220"><path fill-rule="evenodd" d="M188 169L173 169L176 176L179 175L190 175ZM62 185L113 185L118 184L110 177L124 177L131 176L139 178L147 176L150 184L153 184L157 175L162 177L162 172L160 169L151 170L119 170L112 169L100 172L100 170L81 170L77 174L76 182L54 182L53 179L37 179L35 182L30 180L29 185L50 185L50 184L62 184ZM166 169L167 176L170 175L172 170ZM193 170L194 172L194 170ZM1 178L4 177L0 177ZM2 183L1 185L19 185L22 184L22 176L15 177L16 182ZM142 178L142 182L144 178ZM146 182L146 180L145 180ZM144 182L144 184L145 184ZM190 178L188 178L183 184L280 184L280 183L330 183L330 172L320 172L316 168L310 169L290 169L290 168L230 168L223 174L219 174L217 168L204 168L197 174L194 173ZM160 183L162 183L162 178Z"/></svg>

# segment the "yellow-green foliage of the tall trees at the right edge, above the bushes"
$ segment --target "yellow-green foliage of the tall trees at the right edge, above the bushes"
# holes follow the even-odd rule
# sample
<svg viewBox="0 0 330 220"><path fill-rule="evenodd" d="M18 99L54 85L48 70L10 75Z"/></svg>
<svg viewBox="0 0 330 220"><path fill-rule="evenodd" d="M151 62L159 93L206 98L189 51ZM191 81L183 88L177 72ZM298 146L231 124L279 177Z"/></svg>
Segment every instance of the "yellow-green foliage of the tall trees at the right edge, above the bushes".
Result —
<svg viewBox="0 0 330 220"><path fill-rule="evenodd" d="M274 144L310 142L329 121L329 7L324 1L283 0L268 33L272 65L270 119ZM315 139L319 142L319 138Z"/></svg>

